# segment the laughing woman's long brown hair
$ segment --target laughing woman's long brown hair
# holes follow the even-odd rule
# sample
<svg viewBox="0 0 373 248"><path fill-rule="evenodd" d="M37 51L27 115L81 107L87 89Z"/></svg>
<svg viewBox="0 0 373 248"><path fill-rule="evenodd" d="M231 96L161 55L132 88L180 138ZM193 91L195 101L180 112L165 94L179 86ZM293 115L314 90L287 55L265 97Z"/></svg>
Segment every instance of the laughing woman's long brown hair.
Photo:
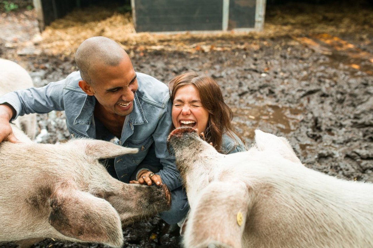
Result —
<svg viewBox="0 0 373 248"><path fill-rule="evenodd" d="M242 137L233 129L231 120L233 112L225 104L222 91L216 81L204 74L198 74L195 71L188 71L174 77L169 82L171 101L175 97L176 91L185 85L194 85L200 93L201 102L204 108L209 111L209 120L207 121L206 130L203 131L206 141L212 142L218 152L222 152L222 136L227 133L233 138L233 133L239 139ZM172 126L172 129L175 128ZM242 140L243 142L243 140Z"/></svg>

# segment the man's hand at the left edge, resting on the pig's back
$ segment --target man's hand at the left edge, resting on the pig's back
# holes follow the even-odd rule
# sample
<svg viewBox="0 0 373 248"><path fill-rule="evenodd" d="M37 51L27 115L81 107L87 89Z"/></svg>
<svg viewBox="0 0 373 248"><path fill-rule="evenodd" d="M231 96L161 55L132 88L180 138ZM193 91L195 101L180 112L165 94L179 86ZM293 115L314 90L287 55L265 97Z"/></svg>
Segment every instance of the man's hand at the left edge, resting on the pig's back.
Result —
<svg viewBox="0 0 373 248"><path fill-rule="evenodd" d="M13 111L14 109L10 105L0 105L0 142L5 140L12 143L21 143L14 135L9 123L13 116Z"/></svg>

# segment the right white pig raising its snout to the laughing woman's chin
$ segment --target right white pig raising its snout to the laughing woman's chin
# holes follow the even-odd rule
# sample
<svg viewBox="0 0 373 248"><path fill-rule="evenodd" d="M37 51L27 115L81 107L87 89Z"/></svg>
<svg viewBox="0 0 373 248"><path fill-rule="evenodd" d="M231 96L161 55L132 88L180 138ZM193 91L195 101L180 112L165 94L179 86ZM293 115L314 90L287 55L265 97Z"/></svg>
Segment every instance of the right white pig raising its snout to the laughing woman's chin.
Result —
<svg viewBox="0 0 373 248"><path fill-rule="evenodd" d="M193 128L170 134L191 209L184 247L373 247L373 184L302 166L283 138L255 140L223 155Z"/></svg>

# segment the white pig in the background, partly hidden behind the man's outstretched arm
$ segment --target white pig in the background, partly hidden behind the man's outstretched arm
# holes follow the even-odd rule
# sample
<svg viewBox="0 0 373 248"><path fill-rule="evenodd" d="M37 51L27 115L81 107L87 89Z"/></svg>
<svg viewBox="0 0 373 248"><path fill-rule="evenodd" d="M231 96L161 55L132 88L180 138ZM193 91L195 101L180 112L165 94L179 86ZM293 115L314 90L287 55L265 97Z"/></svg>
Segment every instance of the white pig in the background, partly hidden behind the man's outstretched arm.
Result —
<svg viewBox="0 0 373 248"><path fill-rule="evenodd" d="M33 87L28 72L19 64L0 58L0 96L5 93ZM36 133L36 115L29 114L18 117L14 123L34 139Z"/></svg>

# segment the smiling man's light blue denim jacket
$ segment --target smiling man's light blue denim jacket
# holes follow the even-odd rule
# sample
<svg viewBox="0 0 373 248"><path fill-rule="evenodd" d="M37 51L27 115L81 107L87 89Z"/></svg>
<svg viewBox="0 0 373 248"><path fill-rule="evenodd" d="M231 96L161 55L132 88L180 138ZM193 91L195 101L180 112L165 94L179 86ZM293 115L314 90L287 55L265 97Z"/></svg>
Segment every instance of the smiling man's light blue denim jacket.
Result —
<svg viewBox="0 0 373 248"><path fill-rule="evenodd" d="M0 104L7 102L13 106L16 110L13 119L24 114L65 110L66 124L72 137L109 141L113 138L109 131L102 124L95 125L95 97L88 96L79 87L79 80L80 73L75 71L66 79L49 83L42 88L7 93L0 98ZM172 124L169 90L164 83L143 73L137 73L137 81L134 108L126 117L118 143L138 148L139 152L115 158L117 176L121 181L129 182L138 165L145 159L148 165L159 168L157 174L170 190L174 190L181 186L181 181L175 157L169 154L166 146Z"/></svg>

